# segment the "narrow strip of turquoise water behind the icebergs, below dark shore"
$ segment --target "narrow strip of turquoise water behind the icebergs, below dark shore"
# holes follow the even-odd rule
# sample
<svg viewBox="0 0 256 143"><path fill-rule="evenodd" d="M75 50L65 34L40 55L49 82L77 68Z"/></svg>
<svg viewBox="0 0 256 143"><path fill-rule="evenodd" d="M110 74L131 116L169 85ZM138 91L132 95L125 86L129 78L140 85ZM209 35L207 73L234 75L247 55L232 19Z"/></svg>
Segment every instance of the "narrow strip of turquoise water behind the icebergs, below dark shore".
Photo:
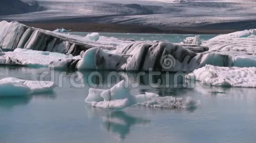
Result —
<svg viewBox="0 0 256 143"><path fill-rule="evenodd" d="M90 32L70 32L72 35L86 36ZM120 39L134 39L139 41L144 40L166 40L171 43L180 43L186 37L194 37L194 34L145 34L145 33L104 33L100 32L100 36L117 37ZM201 40L207 40L215 37L216 35L203 34L199 35Z"/></svg>

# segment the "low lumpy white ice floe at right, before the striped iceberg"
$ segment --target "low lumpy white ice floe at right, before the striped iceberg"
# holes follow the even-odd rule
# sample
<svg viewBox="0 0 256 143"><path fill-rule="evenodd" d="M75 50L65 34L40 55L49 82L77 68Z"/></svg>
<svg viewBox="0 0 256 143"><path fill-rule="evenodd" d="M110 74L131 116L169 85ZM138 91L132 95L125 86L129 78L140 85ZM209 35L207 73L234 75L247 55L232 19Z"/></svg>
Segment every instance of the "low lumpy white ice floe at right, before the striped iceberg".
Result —
<svg viewBox="0 0 256 143"><path fill-rule="evenodd" d="M256 68L217 67L206 65L186 75L209 86L256 87Z"/></svg>

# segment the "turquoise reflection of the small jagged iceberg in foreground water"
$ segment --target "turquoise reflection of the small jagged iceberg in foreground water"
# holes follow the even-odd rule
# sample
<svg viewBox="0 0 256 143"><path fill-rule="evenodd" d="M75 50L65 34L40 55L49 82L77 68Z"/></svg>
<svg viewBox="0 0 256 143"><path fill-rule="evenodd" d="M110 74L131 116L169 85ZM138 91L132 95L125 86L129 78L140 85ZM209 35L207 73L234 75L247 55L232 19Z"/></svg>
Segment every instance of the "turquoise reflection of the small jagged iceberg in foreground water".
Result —
<svg viewBox="0 0 256 143"><path fill-rule="evenodd" d="M103 128L108 132L117 134L120 139L125 139L133 125L147 125L150 120L134 117L124 111L113 111L86 106L90 119L100 116L103 119Z"/></svg>

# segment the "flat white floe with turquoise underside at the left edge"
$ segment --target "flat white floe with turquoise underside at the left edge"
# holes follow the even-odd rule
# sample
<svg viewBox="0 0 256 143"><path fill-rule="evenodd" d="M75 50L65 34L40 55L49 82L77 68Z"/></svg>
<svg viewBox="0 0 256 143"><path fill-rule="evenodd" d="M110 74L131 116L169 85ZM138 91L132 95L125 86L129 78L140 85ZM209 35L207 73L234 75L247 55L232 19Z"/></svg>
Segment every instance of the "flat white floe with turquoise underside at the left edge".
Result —
<svg viewBox="0 0 256 143"><path fill-rule="evenodd" d="M30 81L17 78L5 78L0 80L0 97L43 93L51 91L55 87L55 83L49 81Z"/></svg>

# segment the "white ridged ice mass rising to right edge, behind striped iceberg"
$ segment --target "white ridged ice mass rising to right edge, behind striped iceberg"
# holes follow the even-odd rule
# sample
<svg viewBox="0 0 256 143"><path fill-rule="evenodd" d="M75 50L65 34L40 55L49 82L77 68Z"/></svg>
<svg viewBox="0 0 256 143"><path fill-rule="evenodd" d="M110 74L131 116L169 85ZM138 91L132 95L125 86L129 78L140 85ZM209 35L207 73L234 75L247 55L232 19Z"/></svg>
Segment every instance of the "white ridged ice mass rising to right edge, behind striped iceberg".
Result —
<svg viewBox="0 0 256 143"><path fill-rule="evenodd" d="M256 57L256 29L216 36L203 42L209 51L233 56Z"/></svg>

